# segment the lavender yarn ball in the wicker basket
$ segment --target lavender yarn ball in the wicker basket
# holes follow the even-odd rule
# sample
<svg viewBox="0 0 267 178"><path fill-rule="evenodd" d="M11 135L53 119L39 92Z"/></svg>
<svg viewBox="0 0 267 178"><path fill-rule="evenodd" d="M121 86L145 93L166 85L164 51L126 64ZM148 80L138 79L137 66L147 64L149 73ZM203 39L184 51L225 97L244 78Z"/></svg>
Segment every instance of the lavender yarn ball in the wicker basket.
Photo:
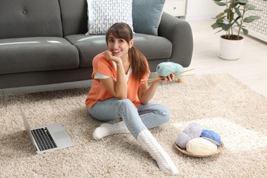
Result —
<svg viewBox="0 0 267 178"><path fill-rule="evenodd" d="M192 123L178 134L175 142L181 149L186 149L186 144L193 138L199 138L201 133L201 125L199 123Z"/></svg>

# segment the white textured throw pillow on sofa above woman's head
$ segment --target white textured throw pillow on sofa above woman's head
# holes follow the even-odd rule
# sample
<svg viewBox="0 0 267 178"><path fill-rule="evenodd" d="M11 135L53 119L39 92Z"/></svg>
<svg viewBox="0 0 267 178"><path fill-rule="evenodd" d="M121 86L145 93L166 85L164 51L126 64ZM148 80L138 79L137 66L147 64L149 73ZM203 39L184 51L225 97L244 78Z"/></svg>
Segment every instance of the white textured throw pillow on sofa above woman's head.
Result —
<svg viewBox="0 0 267 178"><path fill-rule="evenodd" d="M132 0L87 0L89 34L106 34L114 23L127 23L133 30Z"/></svg>

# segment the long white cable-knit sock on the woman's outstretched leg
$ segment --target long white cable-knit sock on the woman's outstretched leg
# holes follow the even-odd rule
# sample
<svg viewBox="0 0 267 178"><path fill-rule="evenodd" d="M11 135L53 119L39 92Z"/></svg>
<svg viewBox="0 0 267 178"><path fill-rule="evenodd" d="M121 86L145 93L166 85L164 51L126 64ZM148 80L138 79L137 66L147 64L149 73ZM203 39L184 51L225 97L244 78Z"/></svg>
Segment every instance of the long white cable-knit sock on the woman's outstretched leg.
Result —
<svg viewBox="0 0 267 178"><path fill-rule="evenodd" d="M137 140L142 148L150 153L162 172L168 175L178 174L178 169L173 163L173 160L170 159L169 155L164 151L149 130L140 131Z"/></svg>

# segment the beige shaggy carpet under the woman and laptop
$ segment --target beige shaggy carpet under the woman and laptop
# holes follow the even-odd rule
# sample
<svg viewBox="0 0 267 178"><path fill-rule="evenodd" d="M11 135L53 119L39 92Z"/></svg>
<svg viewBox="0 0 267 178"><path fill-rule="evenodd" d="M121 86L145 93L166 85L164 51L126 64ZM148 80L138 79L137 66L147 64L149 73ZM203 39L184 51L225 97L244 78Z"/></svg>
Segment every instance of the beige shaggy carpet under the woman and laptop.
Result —
<svg viewBox="0 0 267 178"><path fill-rule="evenodd" d="M0 177L167 177L130 134L93 140L101 122L88 116L88 88L0 96ZM162 85L153 101L170 107L169 123L151 132L179 168L177 177L267 177L267 99L227 74ZM18 103L32 126L62 123L75 146L36 155ZM175 138L190 123L218 132L214 157L183 155Z"/></svg>

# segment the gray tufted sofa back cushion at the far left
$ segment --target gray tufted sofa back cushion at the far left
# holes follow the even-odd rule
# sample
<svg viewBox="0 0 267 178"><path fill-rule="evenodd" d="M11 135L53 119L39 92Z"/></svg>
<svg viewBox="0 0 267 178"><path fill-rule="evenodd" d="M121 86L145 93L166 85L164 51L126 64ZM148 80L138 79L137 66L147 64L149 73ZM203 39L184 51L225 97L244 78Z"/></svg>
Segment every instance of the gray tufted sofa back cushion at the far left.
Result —
<svg viewBox="0 0 267 178"><path fill-rule="evenodd" d="M0 1L0 39L62 36L58 0Z"/></svg>

